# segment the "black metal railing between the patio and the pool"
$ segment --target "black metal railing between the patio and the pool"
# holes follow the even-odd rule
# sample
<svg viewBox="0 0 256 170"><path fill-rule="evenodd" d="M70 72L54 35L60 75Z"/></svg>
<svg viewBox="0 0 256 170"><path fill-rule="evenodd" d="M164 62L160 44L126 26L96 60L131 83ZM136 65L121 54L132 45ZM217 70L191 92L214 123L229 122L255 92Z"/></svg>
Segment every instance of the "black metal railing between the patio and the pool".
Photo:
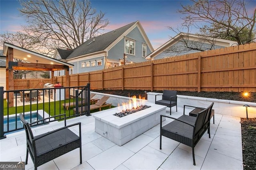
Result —
<svg viewBox="0 0 256 170"><path fill-rule="evenodd" d="M13 103L4 100L4 96L13 99ZM29 123L62 114L66 118L90 116L90 83L79 87L8 91L0 87L0 139L5 138L6 133L23 129L19 113L23 113ZM48 123L61 120L55 117Z"/></svg>

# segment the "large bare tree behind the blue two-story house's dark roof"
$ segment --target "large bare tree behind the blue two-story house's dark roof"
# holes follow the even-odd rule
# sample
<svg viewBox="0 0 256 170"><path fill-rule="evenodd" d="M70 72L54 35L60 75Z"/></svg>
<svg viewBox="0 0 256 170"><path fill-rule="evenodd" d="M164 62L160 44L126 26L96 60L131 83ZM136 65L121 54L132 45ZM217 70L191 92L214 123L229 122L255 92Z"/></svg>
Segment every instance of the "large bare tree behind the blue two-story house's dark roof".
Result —
<svg viewBox="0 0 256 170"><path fill-rule="evenodd" d="M28 22L24 30L40 38L49 51L74 49L108 25L105 14L97 13L89 0L20 0L20 4Z"/></svg>

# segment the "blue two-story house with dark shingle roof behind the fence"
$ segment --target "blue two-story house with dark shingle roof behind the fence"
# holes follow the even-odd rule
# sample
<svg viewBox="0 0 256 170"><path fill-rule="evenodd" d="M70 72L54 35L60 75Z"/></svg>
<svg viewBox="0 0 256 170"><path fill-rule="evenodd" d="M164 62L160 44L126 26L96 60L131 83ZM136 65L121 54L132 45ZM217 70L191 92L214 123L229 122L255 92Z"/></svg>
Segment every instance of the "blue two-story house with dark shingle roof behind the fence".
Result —
<svg viewBox="0 0 256 170"><path fill-rule="evenodd" d="M56 49L54 58L73 64L70 74L76 74L147 61L145 57L152 51L142 25L136 21L91 38L72 50Z"/></svg>

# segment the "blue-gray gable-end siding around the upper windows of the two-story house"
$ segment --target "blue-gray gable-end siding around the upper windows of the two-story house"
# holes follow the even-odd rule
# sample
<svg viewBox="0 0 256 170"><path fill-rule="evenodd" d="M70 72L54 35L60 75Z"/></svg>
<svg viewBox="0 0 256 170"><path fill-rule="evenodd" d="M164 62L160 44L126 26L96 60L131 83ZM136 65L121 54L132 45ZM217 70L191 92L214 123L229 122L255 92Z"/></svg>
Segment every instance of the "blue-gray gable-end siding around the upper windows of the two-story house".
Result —
<svg viewBox="0 0 256 170"><path fill-rule="evenodd" d="M144 57L142 57L142 43L146 44L146 41L144 40L142 34L140 34L140 31L138 27L135 27L131 32L129 32L126 35L126 38L130 38L132 40L135 40L135 55L126 54L127 58L126 61L133 61L135 63L146 61ZM119 60L123 59L124 57L124 40L125 38L122 38L114 47L112 47L108 51L108 59L113 60ZM147 45L147 55L151 53L148 45Z"/></svg>

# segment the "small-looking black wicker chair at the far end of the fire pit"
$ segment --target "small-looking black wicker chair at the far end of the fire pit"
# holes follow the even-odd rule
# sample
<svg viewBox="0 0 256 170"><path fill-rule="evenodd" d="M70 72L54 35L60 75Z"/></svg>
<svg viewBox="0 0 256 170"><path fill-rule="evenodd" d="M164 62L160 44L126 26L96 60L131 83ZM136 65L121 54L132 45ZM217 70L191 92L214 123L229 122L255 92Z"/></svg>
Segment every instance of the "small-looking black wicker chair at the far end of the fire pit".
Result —
<svg viewBox="0 0 256 170"><path fill-rule="evenodd" d="M155 96L155 103L157 105L164 105L167 107L170 107L170 115L172 115L172 107L176 106L177 111L177 91L174 90L164 90L162 95L162 100L156 101L156 95Z"/></svg>

